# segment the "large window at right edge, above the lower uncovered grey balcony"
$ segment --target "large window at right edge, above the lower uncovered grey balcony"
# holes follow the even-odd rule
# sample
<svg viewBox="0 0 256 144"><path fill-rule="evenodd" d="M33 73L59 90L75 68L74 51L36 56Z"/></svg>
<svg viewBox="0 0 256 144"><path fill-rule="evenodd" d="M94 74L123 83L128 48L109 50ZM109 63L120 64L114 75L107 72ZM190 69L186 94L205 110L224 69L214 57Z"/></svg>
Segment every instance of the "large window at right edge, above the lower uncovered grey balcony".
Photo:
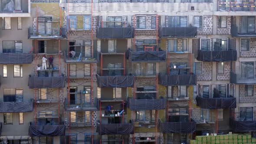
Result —
<svg viewBox="0 0 256 144"><path fill-rule="evenodd" d="M243 79L254 78L254 62L241 62L240 63L240 77Z"/></svg>

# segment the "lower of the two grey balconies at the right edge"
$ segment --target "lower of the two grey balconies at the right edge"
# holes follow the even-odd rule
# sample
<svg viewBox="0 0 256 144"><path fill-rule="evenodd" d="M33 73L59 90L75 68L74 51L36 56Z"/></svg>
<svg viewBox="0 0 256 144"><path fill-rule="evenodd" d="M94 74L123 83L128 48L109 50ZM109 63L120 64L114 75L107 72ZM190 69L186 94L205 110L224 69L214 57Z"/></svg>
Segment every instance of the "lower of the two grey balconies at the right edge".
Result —
<svg viewBox="0 0 256 144"><path fill-rule="evenodd" d="M240 85L256 84L256 78L241 77L239 74L230 72L230 83Z"/></svg>

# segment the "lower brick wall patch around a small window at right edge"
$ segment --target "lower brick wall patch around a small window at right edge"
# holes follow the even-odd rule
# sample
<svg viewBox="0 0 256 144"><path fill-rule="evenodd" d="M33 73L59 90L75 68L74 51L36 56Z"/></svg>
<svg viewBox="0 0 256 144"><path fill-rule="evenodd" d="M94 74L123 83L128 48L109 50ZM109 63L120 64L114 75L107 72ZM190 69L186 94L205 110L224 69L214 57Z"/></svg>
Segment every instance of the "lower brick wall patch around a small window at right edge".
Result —
<svg viewBox="0 0 256 144"><path fill-rule="evenodd" d="M254 85L253 96L245 96L245 85L239 85L239 102L256 103L256 85Z"/></svg>

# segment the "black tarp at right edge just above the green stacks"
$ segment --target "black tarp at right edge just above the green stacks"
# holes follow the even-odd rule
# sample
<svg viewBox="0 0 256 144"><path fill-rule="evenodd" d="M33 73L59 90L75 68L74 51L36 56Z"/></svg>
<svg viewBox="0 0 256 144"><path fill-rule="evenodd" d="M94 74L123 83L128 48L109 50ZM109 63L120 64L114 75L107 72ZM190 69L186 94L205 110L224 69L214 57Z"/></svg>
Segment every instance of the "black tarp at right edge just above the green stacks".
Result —
<svg viewBox="0 0 256 144"><path fill-rule="evenodd" d="M230 118L233 131L256 131L256 121L234 121Z"/></svg>

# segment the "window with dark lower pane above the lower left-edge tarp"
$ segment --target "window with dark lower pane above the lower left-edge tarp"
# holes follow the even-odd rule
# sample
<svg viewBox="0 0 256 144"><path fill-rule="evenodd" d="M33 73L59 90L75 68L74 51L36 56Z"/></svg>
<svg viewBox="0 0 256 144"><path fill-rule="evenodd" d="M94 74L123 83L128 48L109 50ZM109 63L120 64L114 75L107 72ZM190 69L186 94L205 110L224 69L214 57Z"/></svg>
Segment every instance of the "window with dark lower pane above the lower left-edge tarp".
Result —
<svg viewBox="0 0 256 144"><path fill-rule="evenodd" d="M3 88L3 101L23 101L22 88Z"/></svg>

